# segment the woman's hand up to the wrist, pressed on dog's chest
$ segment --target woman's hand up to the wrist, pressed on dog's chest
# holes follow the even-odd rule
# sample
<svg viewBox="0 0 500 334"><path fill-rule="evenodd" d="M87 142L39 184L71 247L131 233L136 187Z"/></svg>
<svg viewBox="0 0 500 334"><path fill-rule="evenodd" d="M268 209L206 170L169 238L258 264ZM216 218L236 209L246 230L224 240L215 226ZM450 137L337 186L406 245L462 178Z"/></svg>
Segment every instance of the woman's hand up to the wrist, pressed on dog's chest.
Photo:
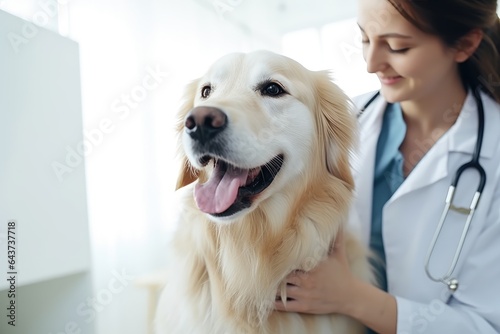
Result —
<svg viewBox="0 0 500 334"><path fill-rule="evenodd" d="M309 272L296 271L287 279L288 301L276 301L279 311L345 313L358 280L351 273L342 231L328 257ZM291 299L291 300L290 300Z"/></svg>

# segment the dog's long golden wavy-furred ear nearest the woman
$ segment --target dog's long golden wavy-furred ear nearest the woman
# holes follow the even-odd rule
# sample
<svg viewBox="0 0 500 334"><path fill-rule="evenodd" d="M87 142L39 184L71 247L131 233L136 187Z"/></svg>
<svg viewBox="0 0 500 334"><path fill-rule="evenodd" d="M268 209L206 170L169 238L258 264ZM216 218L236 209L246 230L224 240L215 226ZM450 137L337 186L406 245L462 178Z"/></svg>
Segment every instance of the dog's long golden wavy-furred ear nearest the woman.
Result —
<svg viewBox="0 0 500 334"><path fill-rule="evenodd" d="M316 72L317 126L322 136L328 172L354 187L350 168L350 155L357 135L354 104L331 81L326 71Z"/></svg>

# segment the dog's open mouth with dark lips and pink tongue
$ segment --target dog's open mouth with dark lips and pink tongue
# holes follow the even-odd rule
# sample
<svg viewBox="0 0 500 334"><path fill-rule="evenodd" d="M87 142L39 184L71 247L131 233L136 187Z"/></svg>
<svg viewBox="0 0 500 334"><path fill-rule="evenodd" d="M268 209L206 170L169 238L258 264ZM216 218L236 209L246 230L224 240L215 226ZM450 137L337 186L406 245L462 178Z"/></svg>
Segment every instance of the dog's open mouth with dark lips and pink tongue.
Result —
<svg viewBox="0 0 500 334"><path fill-rule="evenodd" d="M228 217L249 208L255 195L271 185L283 165L279 154L265 165L256 168L240 168L230 163L205 155L202 165L214 163L214 170L207 182L197 184L194 196L198 208L216 217Z"/></svg>

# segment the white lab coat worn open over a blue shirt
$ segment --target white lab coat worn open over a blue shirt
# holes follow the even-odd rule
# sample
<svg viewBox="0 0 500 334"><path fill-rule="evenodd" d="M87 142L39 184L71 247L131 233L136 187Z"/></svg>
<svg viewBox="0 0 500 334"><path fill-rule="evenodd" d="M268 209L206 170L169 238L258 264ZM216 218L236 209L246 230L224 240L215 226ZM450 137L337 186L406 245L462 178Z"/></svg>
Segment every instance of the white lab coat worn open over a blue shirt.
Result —
<svg viewBox="0 0 500 334"><path fill-rule="evenodd" d="M370 98L354 99L361 108ZM383 209L388 290L397 299L397 333L500 333L500 105L482 94L485 111L480 162L487 181L454 272L459 288L451 295L425 273L425 257L457 168L469 161L478 116L469 93L456 123L421 159ZM359 118L360 140L353 161L356 200L351 224L368 245L373 173L386 102L378 97ZM455 205L468 207L478 174L464 172ZM390 177L390 175L388 176ZM451 212L436 245L431 272L444 274L451 263L465 216Z"/></svg>

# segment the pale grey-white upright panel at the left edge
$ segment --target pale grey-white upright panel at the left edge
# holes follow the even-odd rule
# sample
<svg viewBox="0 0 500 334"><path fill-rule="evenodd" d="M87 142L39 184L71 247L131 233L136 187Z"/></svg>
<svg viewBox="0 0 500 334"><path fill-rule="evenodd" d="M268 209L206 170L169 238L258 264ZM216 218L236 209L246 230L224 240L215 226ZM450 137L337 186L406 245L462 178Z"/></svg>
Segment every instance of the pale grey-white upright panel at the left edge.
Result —
<svg viewBox="0 0 500 334"><path fill-rule="evenodd" d="M0 50L0 268L14 219L18 286L88 270L82 156L52 166L82 143L78 45L0 11Z"/></svg>

